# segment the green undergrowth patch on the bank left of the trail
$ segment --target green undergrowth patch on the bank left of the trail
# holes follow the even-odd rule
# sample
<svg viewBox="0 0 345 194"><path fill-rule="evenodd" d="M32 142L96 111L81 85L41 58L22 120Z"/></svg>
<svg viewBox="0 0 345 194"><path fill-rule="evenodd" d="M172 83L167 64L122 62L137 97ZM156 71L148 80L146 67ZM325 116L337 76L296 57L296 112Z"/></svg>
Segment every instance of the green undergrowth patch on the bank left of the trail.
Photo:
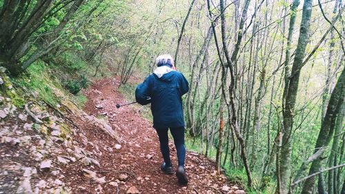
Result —
<svg viewBox="0 0 345 194"><path fill-rule="evenodd" d="M17 107L25 105L24 94L30 94L32 100L43 100L52 107L68 98L82 108L87 98L79 91L87 88L92 80L110 76L105 66L101 65L95 76L95 67L73 53L63 53L50 61L38 60L23 74L10 78L16 91L23 91L20 95L10 94L10 98ZM56 90L62 95L57 96Z"/></svg>

